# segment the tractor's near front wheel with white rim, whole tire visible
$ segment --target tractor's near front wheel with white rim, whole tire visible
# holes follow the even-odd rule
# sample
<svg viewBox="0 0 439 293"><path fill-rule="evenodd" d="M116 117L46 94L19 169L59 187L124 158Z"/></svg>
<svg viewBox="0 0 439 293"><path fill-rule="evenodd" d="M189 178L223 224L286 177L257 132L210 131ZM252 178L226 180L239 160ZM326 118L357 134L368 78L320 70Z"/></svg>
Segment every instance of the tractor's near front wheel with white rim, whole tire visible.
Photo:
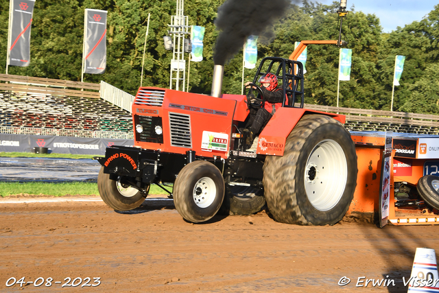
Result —
<svg viewBox="0 0 439 293"><path fill-rule="evenodd" d="M224 178L206 161L193 161L180 170L174 183L174 204L185 220L193 223L212 218L224 199Z"/></svg>

